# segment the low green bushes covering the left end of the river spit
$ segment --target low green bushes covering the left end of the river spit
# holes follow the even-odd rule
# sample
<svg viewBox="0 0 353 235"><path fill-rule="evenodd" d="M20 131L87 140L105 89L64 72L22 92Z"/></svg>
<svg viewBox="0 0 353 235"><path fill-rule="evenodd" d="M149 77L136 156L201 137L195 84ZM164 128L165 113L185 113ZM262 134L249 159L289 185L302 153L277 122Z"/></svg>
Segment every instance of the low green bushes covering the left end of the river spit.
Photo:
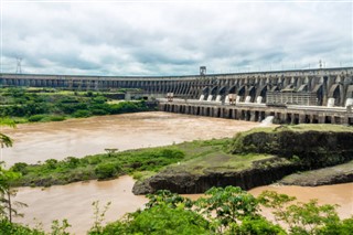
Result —
<svg viewBox="0 0 353 235"><path fill-rule="evenodd" d="M15 185L50 186L92 179L111 179L135 172L157 172L162 167L181 161L184 152L176 148L152 148L139 151L109 152L63 161L47 159L42 164L15 163L11 170L22 174Z"/></svg>

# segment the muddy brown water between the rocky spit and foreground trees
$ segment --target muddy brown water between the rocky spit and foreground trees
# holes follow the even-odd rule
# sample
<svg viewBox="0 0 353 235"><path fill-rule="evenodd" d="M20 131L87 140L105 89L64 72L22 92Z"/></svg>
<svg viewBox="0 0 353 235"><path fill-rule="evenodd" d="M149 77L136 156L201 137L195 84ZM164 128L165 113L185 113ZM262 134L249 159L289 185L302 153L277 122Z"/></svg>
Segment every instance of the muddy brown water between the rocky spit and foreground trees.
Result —
<svg viewBox="0 0 353 235"><path fill-rule="evenodd" d="M17 218L17 222L34 226L38 221L41 221L43 227L49 229L53 220L67 218L73 225L71 232L86 234L94 222L92 206L94 201L98 200L100 207L111 202L105 222L116 221L127 212L143 207L148 200L143 195L131 193L133 182L132 178L125 175L111 181L77 182L46 189L20 188L17 200L25 202L29 206L21 209L25 216ZM265 190L297 196L301 202L318 199L320 204L339 204L338 212L342 218L353 214L353 183L315 188L268 185L253 189L249 192L258 195ZM202 194L186 196L195 200ZM265 211L264 215L271 217L268 211ZM36 221L33 220L34 217Z"/></svg>

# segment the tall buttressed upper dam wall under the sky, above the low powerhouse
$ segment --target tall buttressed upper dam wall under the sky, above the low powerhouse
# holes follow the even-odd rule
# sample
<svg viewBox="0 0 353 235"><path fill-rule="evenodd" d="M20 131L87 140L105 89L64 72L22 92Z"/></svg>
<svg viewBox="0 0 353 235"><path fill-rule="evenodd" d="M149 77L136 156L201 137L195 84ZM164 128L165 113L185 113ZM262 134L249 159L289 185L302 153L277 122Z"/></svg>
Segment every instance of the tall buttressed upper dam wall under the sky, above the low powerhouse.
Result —
<svg viewBox="0 0 353 235"><path fill-rule="evenodd" d="M314 94L318 106L345 107L353 99L353 67L191 76L74 76L0 74L2 86L62 87L68 89L141 88L173 93L175 97L225 102L266 103L271 92Z"/></svg>

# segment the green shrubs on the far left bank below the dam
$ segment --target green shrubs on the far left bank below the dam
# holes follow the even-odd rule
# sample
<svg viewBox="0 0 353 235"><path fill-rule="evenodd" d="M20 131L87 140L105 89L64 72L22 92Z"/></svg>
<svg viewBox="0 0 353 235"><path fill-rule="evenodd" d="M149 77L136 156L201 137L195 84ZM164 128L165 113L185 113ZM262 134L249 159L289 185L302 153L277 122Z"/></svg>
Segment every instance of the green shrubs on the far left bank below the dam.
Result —
<svg viewBox="0 0 353 235"><path fill-rule="evenodd" d="M17 122L61 121L152 110L145 102L111 100L114 94L10 87L0 89L0 117Z"/></svg>

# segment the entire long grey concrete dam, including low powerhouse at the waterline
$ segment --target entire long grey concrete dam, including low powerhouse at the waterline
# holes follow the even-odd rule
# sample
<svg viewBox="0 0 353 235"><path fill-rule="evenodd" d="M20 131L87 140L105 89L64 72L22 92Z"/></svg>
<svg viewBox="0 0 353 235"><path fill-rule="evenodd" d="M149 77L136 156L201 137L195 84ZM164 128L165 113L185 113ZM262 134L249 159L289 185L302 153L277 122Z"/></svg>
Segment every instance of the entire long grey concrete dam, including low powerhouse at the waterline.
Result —
<svg viewBox="0 0 353 235"><path fill-rule="evenodd" d="M0 85L75 90L139 88L160 110L278 124L353 125L353 67L190 76L0 74Z"/></svg>

